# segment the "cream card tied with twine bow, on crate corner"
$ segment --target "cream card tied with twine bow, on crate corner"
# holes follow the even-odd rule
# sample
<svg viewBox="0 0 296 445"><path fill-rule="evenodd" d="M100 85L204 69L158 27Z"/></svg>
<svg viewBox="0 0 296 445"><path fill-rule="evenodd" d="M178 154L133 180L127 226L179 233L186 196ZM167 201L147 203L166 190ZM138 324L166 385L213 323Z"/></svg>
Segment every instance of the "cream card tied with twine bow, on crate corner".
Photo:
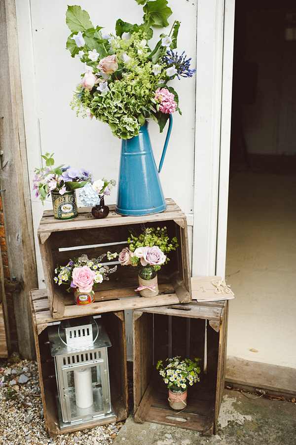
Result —
<svg viewBox="0 0 296 445"><path fill-rule="evenodd" d="M216 275L210 277L191 278L192 299L198 302L221 301L234 298L229 285L225 279Z"/></svg>

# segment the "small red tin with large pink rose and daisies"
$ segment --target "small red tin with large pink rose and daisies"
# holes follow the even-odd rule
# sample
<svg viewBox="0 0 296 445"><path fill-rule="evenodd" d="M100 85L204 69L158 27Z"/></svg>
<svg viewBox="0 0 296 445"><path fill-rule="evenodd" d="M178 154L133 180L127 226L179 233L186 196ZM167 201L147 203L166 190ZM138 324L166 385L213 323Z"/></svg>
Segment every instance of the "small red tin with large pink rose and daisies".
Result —
<svg viewBox="0 0 296 445"><path fill-rule="evenodd" d="M106 254L97 259L89 260L87 255L70 260L66 266L57 265L54 281L59 286L68 285L67 292L74 290L74 302L77 305L90 304L95 300L94 288L109 280L108 274L115 272L117 266L110 268L102 265L102 259Z"/></svg>

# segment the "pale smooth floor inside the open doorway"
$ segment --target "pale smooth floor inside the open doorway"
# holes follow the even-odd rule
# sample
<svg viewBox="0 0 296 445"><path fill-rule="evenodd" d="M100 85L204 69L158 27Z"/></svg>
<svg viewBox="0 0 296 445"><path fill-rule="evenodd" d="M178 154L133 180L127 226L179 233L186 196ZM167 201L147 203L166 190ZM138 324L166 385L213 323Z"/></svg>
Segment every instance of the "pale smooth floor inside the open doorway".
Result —
<svg viewBox="0 0 296 445"><path fill-rule="evenodd" d="M229 185L227 356L296 369L296 176L236 173Z"/></svg>

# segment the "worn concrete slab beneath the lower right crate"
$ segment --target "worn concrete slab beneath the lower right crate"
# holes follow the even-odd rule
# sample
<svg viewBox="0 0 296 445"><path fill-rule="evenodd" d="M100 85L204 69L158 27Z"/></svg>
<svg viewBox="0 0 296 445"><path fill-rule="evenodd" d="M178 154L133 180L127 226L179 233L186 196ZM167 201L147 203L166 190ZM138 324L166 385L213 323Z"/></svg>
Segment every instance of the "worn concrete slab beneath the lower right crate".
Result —
<svg viewBox="0 0 296 445"><path fill-rule="evenodd" d="M136 423L131 415L113 445L296 445L296 404L225 390L215 436Z"/></svg>

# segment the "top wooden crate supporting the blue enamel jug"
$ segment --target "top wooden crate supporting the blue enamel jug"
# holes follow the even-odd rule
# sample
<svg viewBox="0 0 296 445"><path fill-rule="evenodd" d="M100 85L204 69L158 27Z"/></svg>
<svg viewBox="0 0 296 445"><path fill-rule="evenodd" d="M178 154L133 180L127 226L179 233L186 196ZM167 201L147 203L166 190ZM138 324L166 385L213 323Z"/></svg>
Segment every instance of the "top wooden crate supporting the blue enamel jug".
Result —
<svg viewBox="0 0 296 445"><path fill-rule="evenodd" d="M114 310L189 302L191 283L186 217L173 200L168 199L167 205L165 212L144 217L117 215L114 206L110 206L109 216L103 220L93 218L91 209L85 207L79 209L78 218L63 222L54 220L51 211L44 212L37 233L52 317L72 318ZM66 286L54 283L57 263L66 265L70 259L82 254L87 254L91 259L108 251L119 253L127 246L130 230L140 234L143 224L145 227L166 226L170 238L176 236L178 239L179 247L170 252L170 261L157 274L161 295L140 297L139 292L135 292L139 286L138 269L120 264L116 272L109 275L109 281L97 286L95 302L91 305L75 306L73 294L65 291Z"/></svg>

